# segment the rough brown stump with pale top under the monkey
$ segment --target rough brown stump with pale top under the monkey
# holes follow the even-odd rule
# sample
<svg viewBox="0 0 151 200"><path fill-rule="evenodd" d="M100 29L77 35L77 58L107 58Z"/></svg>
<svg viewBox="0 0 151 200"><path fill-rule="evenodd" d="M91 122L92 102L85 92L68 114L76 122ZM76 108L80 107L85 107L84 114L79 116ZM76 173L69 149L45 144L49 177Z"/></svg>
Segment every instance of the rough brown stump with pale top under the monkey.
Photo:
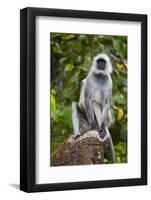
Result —
<svg viewBox="0 0 151 200"><path fill-rule="evenodd" d="M97 131L88 131L74 139L71 136L51 156L51 166L104 163L104 147Z"/></svg>

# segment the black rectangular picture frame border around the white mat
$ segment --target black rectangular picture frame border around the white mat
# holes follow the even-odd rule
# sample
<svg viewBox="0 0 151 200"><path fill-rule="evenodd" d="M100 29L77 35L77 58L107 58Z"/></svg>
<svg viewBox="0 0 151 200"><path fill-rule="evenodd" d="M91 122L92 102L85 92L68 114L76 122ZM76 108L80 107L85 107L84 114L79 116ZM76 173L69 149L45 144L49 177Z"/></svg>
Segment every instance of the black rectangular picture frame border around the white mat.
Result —
<svg viewBox="0 0 151 200"><path fill-rule="evenodd" d="M141 178L70 183L35 182L35 19L37 16L141 23ZM25 192L121 187L147 184L147 15L24 8L20 11L20 189Z"/></svg>

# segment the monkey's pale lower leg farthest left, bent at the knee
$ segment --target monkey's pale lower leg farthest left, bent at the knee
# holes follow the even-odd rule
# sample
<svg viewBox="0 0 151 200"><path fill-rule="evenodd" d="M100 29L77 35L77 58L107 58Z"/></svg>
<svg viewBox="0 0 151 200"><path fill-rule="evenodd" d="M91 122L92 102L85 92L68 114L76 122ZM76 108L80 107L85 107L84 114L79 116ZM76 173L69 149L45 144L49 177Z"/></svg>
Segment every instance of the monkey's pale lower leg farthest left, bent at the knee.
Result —
<svg viewBox="0 0 151 200"><path fill-rule="evenodd" d="M76 102L72 102L72 125L73 125L73 134L75 138L80 136L79 116L78 116L77 106L78 104Z"/></svg>

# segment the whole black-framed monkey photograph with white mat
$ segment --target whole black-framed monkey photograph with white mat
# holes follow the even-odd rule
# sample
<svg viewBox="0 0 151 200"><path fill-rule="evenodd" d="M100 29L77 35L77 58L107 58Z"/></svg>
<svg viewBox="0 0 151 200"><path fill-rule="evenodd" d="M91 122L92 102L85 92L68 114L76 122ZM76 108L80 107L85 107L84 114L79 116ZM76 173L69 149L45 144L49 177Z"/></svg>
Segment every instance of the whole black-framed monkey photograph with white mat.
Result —
<svg viewBox="0 0 151 200"><path fill-rule="evenodd" d="M20 11L20 189L147 184L147 15Z"/></svg>

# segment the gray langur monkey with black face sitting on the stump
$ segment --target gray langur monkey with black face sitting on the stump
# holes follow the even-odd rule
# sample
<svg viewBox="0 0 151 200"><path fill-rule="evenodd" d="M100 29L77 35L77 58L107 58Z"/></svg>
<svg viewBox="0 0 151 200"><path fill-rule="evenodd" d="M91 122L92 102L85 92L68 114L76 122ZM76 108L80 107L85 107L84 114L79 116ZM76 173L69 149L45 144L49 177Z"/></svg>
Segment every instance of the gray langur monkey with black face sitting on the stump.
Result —
<svg viewBox="0 0 151 200"><path fill-rule="evenodd" d="M81 130L97 130L102 142L109 142L112 162L115 162L113 142L109 133L111 122L112 64L107 54L94 57L90 72L82 81L79 102L72 102L72 123L75 139Z"/></svg>

